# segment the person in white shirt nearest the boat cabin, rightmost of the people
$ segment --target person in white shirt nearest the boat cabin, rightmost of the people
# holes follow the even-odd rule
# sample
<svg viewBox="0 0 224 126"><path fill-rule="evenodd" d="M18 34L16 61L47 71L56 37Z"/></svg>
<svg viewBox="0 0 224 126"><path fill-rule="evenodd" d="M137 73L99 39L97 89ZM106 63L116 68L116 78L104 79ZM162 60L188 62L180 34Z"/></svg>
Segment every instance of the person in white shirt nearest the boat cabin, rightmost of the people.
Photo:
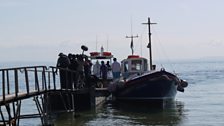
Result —
<svg viewBox="0 0 224 126"><path fill-rule="evenodd" d="M118 79L118 78L120 78L120 74L121 74L121 65L120 65L120 63L117 62L116 58L114 58L113 61L114 62L111 65L113 78Z"/></svg>

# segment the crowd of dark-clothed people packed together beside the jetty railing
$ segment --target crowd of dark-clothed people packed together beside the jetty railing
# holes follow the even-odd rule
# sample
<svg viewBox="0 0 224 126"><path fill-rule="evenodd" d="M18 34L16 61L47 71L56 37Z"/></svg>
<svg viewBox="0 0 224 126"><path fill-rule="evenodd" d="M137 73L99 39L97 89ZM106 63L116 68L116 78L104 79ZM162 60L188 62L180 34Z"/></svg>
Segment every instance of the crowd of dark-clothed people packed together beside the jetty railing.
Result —
<svg viewBox="0 0 224 126"><path fill-rule="evenodd" d="M83 54L60 53L56 67L60 70L62 89L81 88L91 76L92 63L88 56ZM57 70L56 70L57 72Z"/></svg>

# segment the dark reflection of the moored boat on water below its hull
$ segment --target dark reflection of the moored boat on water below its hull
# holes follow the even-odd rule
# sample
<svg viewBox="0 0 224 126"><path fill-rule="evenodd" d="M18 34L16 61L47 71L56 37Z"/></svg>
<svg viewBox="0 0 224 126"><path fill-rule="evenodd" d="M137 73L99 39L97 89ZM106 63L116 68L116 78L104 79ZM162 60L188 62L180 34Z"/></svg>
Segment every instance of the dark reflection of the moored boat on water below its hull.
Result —
<svg viewBox="0 0 224 126"><path fill-rule="evenodd" d="M130 125L181 125L184 116L184 104L175 101L168 101L163 107L119 103L115 108L120 114L125 113Z"/></svg>

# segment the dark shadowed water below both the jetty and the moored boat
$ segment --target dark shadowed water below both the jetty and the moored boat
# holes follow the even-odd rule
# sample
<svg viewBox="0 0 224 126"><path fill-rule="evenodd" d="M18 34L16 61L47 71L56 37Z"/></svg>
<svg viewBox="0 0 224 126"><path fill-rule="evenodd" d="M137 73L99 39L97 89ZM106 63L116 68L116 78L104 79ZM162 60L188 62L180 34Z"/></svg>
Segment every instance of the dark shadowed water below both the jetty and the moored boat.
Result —
<svg viewBox="0 0 224 126"><path fill-rule="evenodd" d="M65 113L55 120L55 126L111 126L111 125L160 125L179 126L184 121L184 104L179 101L169 102L162 108L130 103L107 103L95 110Z"/></svg>

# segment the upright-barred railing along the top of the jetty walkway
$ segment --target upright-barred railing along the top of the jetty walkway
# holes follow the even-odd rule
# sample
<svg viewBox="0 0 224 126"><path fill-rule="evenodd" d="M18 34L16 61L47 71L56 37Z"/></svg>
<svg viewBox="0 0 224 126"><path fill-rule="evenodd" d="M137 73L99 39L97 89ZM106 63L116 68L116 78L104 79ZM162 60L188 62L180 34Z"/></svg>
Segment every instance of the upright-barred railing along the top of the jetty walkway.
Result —
<svg viewBox="0 0 224 126"><path fill-rule="evenodd" d="M1 100L5 101L7 95L12 94L15 98L18 98L20 93L29 95L32 91L41 92L62 89L60 83L58 83L60 74L58 75L55 72L57 70L66 71L67 75L68 73L78 73L74 70L54 66L27 66L0 69L0 76L2 76L0 77L0 82L2 83L0 91ZM68 77L72 78L72 76L66 76L67 80L71 79ZM65 90L73 90L73 85L70 88L67 82Z"/></svg>

